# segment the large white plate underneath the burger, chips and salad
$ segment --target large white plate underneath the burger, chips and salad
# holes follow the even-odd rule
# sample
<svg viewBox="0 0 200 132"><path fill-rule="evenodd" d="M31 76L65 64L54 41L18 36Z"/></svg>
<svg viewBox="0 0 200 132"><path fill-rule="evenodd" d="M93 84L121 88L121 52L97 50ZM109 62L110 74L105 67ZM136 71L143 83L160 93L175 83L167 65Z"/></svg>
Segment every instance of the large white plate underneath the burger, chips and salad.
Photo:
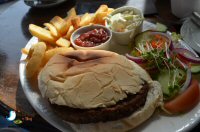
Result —
<svg viewBox="0 0 200 132"><path fill-rule="evenodd" d="M155 28L155 25L144 21L143 30ZM27 43L26 48L30 48L30 46L34 43L37 43L38 39L36 37L32 37L30 41ZM114 45L112 44L112 51L126 53L128 48L126 46ZM181 47L186 47L183 43L180 45ZM21 60L24 60L26 55L21 56ZM70 132L72 129L69 125L61 119L58 115L55 114L49 102L42 98L37 85L33 86L29 83L25 76L25 63L21 62L19 65L19 74L20 81L22 84L22 88L24 93L29 100L30 104L33 108L41 115L47 122L49 122L54 127L58 128L61 131ZM200 120L200 103L193 108L188 113L179 115L179 116L165 116L160 114L159 112L155 112L155 114L147 120L145 123L134 129L133 131L143 131L143 132L180 132L180 131L188 131L192 129Z"/></svg>

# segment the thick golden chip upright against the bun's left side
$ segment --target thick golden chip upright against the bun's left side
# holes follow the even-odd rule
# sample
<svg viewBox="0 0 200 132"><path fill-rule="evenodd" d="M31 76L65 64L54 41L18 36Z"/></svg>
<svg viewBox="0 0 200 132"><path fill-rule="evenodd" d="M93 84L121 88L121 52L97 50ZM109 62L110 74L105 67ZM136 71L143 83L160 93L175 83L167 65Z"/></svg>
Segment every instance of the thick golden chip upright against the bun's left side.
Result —
<svg viewBox="0 0 200 132"><path fill-rule="evenodd" d="M33 77L40 69L42 65L42 60L46 51L46 44L44 42L39 42L33 45L30 49L30 54L27 65L26 65L26 77Z"/></svg>

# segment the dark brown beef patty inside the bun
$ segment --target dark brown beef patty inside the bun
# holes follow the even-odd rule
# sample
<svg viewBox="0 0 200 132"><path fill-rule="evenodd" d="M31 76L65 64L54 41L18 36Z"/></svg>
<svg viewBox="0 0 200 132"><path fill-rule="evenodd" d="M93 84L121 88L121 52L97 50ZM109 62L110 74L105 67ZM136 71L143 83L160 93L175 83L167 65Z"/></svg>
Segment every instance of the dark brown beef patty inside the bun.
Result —
<svg viewBox="0 0 200 132"><path fill-rule="evenodd" d="M124 100L116 105L105 108L78 109L67 106L52 105L56 114L62 119L78 124L106 122L130 116L144 106L149 86L144 84L137 94L128 94Z"/></svg>

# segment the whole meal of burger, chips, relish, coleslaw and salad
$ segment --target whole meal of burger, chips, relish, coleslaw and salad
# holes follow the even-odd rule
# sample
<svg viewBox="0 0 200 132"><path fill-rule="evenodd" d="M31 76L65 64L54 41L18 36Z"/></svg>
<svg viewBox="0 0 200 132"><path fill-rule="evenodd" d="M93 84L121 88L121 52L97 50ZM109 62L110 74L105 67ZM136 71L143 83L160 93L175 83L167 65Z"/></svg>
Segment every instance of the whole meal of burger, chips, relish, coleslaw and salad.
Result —
<svg viewBox="0 0 200 132"><path fill-rule="evenodd" d="M44 28L29 25L38 43L22 49L26 77L38 79L42 96L76 131L128 131L157 108L181 114L199 103L192 73L200 72L200 59L179 47L180 36L169 35L162 24L162 32L138 33L130 53L87 49L112 39L105 26L126 32L143 23L143 15L125 9L112 14L113 8L101 5L93 14L77 15L72 8L66 18L55 16ZM73 33L95 24L105 28L87 30L71 42ZM76 50L73 43L86 50Z"/></svg>

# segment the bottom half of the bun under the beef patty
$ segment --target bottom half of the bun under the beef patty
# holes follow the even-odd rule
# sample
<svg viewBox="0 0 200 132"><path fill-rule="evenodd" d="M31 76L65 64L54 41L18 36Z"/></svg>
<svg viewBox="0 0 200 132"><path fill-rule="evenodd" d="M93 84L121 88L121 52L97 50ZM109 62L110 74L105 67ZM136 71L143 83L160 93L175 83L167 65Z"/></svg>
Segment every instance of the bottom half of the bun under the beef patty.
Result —
<svg viewBox="0 0 200 132"><path fill-rule="evenodd" d="M163 95L159 82L150 81L149 91L145 105L134 112L129 117L116 121L90 123L90 124L73 124L70 126L77 132L125 132L140 125L154 113L155 109L162 105Z"/></svg>

